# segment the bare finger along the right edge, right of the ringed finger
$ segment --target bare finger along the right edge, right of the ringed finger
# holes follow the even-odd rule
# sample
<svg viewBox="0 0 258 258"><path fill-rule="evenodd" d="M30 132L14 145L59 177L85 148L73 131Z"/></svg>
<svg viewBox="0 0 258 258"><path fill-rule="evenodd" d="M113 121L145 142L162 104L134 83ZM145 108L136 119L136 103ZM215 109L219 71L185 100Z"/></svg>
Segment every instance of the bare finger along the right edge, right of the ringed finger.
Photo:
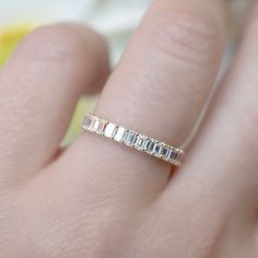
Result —
<svg viewBox="0 0 258 258"><path fill-rule="evenodd" d="M204 196L201 186L204 181L210 191L207 196L225 201L227 209L236 206L245 212L254 212L254 209L257 212L254 202L257 203L258 198L258 7L255 10L236 60L215 95L187 166L177 176L184 189L191 191L194 184L190 181L195 178L195 188ZM175 195L171 190L169 196Z"/></svg>

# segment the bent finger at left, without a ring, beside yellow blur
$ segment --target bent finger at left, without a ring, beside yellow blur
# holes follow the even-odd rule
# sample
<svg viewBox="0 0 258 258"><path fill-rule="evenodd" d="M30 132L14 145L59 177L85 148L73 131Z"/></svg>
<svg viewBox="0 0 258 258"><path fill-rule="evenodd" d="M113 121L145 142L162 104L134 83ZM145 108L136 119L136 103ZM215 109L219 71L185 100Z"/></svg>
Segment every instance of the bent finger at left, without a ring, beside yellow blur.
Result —
<svg viewBox="0 0 258 258"><path fill-rule="evenodd" d="M52 159L78 98L101 87L107 63L103 38L82 25L50 25L26 37L0 73L3 179Z"/></svg>

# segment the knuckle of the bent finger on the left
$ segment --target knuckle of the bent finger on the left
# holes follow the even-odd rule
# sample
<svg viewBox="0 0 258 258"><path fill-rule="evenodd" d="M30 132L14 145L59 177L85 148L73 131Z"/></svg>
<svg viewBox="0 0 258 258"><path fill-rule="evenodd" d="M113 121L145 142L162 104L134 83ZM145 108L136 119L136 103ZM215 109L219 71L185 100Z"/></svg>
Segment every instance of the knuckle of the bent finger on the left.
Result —
<svg viewBox="0 0 258 258"><path fill-rule="evenodd" d="M93 36L87 37L87 33ZM98 52L95 48L99 48L101 44L94 44L96 37L99 36L81 25L47 25L32 32L22 50L33 59L72 62L81 60L82 52L87 56Z"/></svg>

